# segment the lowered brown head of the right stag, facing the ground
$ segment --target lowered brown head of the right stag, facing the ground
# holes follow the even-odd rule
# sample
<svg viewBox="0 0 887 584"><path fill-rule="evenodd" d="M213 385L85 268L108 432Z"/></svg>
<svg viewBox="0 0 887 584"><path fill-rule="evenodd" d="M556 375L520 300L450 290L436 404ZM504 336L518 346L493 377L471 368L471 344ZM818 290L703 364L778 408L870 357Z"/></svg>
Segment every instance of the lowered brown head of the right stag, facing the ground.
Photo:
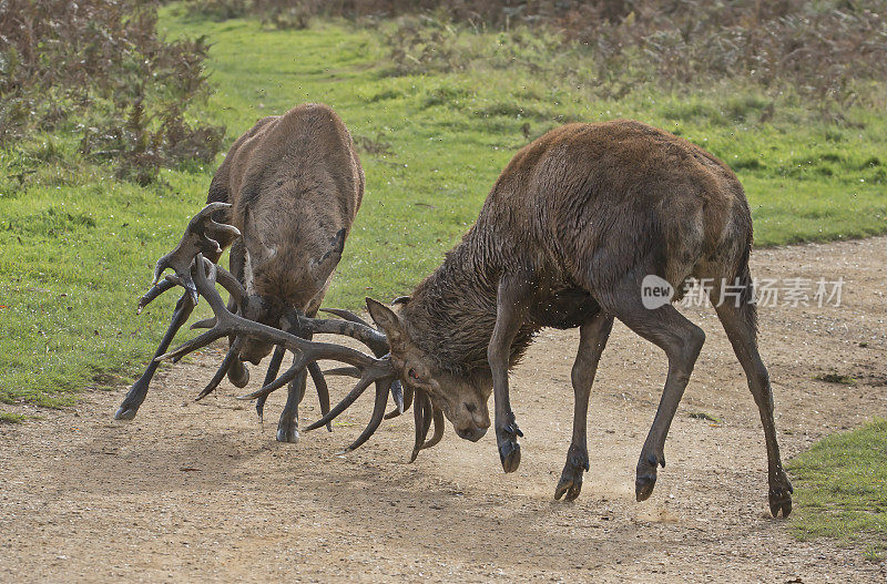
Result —
<svg viewBox="0 0 887 584"><path fill-rule="evenodd" d="M400 381L425 392L442 410L460 438L476 442L490 427L487 401L492 392L490 378L461 378L436 366L435 360L410 338L409 326L397 313L371 298L367 309L385 331L391 349L391 365Z"/></svg>

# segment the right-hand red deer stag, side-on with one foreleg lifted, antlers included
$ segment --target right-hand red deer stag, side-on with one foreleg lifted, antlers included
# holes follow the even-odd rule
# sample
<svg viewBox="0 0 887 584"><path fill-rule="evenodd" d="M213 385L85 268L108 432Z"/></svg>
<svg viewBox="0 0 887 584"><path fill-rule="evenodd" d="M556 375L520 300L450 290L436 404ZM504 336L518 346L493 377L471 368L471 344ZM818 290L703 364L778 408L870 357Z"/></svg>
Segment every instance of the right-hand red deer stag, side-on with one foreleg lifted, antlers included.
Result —
<svg viewBox="0 0 887 584"><path fill-rule="evenodd" d="M635 496L648 499L664 442L705 335L670 303L648 308L642 283L656 276L681 290L689 278L708 278L712 304L745 371L761 413L768 461L769 509L792 511L792 485L779 460L773 393L757 351L756 310L748 271L752 218L733 172L702 148L633 121L570 124L522 148L499 176L477 223L443 264L390 309L367 299L385 331L390 356L363 361L344 348L305 345L225 310L207 276L201 294L214 295L218 325L161 359L236 332L293 347L299 366L333 355L350 359L355 389L322 420L347 408L376 380L375 430L384 390L398 378L416 392L417 448L428 431L419 395L442 411L460 437L476 441L490 426L495 396L496 437L506 472L520 463L522 436L509 403L508 371L542 327L580 328L572 369L573 436L555 499L575 499L589 470L585 419L589 393L613 318L660 347L669 359L662 400L638 462ZM724 286L740 301L721 301ZM249 397L261 397L294 372ZM437 418L437 416L436 416ZM421 428L419 428L421 422ZM438 432L436 431L436 434ZM424 436L424 434L422 434ZM437 438L437 436L436 436ZM434 441L434 439L432 439ZM425 444L428 445L428 444ZM414 451L415 455L415 451Z"/></svg>

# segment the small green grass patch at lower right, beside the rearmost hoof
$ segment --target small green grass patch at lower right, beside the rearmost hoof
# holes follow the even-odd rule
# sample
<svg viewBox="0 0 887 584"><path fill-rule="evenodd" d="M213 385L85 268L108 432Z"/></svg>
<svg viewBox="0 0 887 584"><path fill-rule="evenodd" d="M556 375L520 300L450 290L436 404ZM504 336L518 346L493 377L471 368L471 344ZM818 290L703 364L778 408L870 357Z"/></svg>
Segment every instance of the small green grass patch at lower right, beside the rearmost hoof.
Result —
<svg viewBox="0 0 887 584"><path fill-rule="evenodd" d="M833 537L887 551L887 420L830 436L788 465L795 486L792 532L801 540Z"/></svg>

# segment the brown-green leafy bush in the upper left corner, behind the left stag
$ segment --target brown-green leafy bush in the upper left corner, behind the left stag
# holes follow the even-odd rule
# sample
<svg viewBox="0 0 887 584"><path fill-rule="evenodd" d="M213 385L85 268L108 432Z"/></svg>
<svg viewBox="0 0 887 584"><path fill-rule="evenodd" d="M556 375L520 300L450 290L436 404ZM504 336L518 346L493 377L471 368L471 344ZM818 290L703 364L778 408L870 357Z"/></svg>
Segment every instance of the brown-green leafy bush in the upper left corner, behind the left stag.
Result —
<svg viewBox="0 0 887 584"><path fill-rule="evenodd" d="M144 184L163 164L210 161L224 129L184 112L207 92L203 38L166 42L135 0L0 2L0 144L80 134L81 151Z"/></svg>

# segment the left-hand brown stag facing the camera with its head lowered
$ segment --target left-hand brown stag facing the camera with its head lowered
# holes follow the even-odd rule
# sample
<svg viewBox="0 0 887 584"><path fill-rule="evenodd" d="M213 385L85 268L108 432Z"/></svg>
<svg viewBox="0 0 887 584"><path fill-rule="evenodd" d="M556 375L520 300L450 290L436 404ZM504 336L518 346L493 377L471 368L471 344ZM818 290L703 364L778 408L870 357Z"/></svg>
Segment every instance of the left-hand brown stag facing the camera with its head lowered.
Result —
<svg viewBox="0 0 887 584"><path fill-rule="evenodd" d="M197 303L192 280L194 256L202 253L217 262L232 244L231 274L225 276L232 293L230 308L247 319L310 338L312 331L305 328L308 320L303 318L299 328L290 313L307 317L317 313L363 195L364 173L354 143L332 109L303 104L284 115L259 120L228 151L210 185L206 207L191 221L179 247L157 262L155 286L142 298L140 310L175 284L186 291L155 357L166 351ZM166 268L173 268L175 276L157 284ZM210 325L203 321L195 327ZM381 340L384 354L387 348ZM252 338L231 337L230 342L222 367L201 397L215 389L225 373L235 386L244 387L249 377L242 361L258 365L273 348ZM376 348L379 350L378 344ZM283 357L284 348L278 347L268 369L269 380L277 376ZM135 416L156 366L152 361L132 386L115 418ZM327 411L323 376L315 363L309 371ZM277 440L298 439L297 408L304 388L305 371L289 385ZM259 416L263 408L264 400L257 403Z"/></svg>

